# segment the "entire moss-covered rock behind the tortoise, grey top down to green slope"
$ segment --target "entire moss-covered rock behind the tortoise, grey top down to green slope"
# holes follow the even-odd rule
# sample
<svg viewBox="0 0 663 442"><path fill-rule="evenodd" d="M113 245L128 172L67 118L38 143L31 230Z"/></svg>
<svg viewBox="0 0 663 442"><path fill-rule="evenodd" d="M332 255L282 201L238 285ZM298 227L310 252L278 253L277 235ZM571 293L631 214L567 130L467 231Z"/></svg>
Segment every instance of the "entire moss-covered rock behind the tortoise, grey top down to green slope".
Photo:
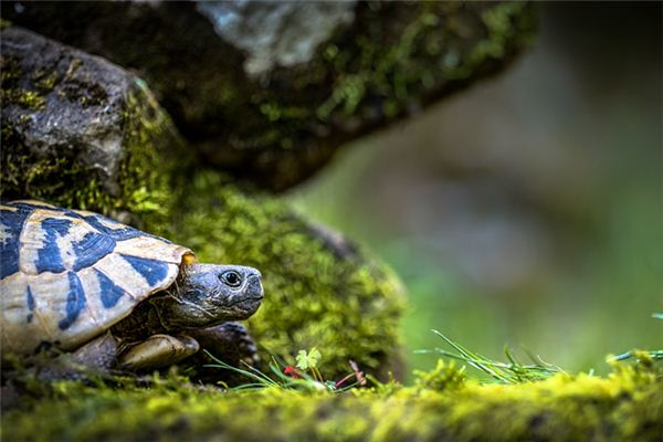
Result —
<svg viewBox="0 0 663 442"><path fill-rule="evenodd" d="M385 265L199 167L145 83L107 61L8 27L2 63L2 199L97 211L203 261L260 269L266 297L250 329L264 361L317 346L329 376L350 358L380 377L399 370L403 301ZM81 98L91 91L103 99ZM113 155L97 155L108 137Z"/></svg>

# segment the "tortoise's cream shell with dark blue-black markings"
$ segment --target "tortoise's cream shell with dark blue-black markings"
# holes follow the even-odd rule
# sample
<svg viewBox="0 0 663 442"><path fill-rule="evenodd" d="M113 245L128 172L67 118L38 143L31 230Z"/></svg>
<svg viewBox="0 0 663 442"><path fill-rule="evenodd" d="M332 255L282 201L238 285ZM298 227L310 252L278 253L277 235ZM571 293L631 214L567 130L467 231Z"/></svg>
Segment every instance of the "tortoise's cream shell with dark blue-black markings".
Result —
<svg viewBox="0 0 663 442"><path fill-rule="evenodd" d="M97 213L0 204L2 354L80 347L171 285L189 249Z"/></svg>

